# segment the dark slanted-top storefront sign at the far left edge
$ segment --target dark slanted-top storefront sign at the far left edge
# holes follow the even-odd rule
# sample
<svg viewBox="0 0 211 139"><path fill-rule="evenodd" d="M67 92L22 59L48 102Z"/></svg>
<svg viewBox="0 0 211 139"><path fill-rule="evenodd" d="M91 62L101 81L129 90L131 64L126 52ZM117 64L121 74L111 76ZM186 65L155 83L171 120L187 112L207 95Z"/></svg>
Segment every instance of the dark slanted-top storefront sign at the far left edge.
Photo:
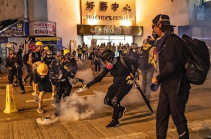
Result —
<svg viewBox="0 0 211 139"><path fill-rule="evenodd" d="M0 34L0 36L24 36L23 34L23 21L20 21L8 29L6 29L4 32Z"/></svg>

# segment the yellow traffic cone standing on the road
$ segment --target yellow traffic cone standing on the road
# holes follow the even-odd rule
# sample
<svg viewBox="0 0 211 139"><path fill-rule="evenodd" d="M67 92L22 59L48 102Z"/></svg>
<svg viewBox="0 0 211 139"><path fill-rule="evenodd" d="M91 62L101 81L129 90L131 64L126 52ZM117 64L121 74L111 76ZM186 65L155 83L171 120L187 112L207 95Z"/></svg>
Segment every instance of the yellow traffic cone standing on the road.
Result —
<svg viewBox="0 0 211 139"><path fill-rule="evenodd" d="M13 92L14 90L12 84L8 84L6 86L6 108L4 110L4 113L12 113L18 111L15 106Z"/></svg>

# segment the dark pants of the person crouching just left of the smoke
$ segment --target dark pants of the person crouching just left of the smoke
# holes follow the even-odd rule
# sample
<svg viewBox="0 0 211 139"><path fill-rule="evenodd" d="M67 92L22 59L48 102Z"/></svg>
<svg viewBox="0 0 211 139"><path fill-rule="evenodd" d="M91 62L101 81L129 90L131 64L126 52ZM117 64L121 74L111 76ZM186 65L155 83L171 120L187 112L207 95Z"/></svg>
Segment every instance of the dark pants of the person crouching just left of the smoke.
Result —
<svg viewBox="0 0 211 139"><path fill-rule="evenodd" d="M55 115L58 116L60 112L60 100L61 98L65 98L67 96L70 96L70 92L72 89L72 85L69 83L69 81L66 82L57 82L56 83L56 93L54 95L54 103L56 105L55 109Z"/></svg>

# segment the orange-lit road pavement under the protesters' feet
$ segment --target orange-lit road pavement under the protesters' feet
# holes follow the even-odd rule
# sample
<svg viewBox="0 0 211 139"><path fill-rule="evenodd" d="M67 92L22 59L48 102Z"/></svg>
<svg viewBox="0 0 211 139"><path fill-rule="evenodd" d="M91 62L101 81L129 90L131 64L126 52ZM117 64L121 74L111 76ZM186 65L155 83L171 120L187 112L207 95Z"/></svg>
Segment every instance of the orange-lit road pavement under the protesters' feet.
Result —
<svg viewBox="0 0 211 139"><path fill-rule="evenodd" d="M93 95L95 92L105 95L107 88L112 83L111 77L105 77L102 82L93 85L89 90L79 93L80 96ZM21 95L18 87L14 92L14 98L18 112L5 114L5 86L7 84L6 74L0 75L0 139L155 139L156 120L152 115L140 94L131 91L123 100L127 111L120 120L120 126L106 128L111 121L112 109L107 106L100 106L101 102L93 101L99 105L100 110L91 117L81 120L60 120L50 125L39 125L37 118L51 115L54 108L51 105L50 94L44 96L47 101L43 103L44 114L36 112L37 103L31 102L32 88L26 87L26 94ZM206 139L211 135L211 73L203 85L193 85L186 107L186 116L190 130L190 139ZM80 87L80 84L78 85ZM74 87L74 92L78 87ZM152 93L151 106L156 112L159 93ZM168 139L178 138L176 128L170 118Z"/></svg>

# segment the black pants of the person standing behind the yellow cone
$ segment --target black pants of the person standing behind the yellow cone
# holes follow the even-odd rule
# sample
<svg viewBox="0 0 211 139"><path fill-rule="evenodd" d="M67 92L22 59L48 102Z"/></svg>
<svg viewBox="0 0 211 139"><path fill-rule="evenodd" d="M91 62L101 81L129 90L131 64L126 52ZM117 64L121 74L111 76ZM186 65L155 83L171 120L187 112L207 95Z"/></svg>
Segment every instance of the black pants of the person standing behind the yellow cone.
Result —
<svg viewBox="0 0 211 139"><path fill-rule="evenodd" d="M22 82L23 70L21 68L13 68L12 70L9 70L9 73L8 73L9 84L13 83L14 76L16 76L16 78L18 80L21 90L25 91L23 82Z"/></svg>

